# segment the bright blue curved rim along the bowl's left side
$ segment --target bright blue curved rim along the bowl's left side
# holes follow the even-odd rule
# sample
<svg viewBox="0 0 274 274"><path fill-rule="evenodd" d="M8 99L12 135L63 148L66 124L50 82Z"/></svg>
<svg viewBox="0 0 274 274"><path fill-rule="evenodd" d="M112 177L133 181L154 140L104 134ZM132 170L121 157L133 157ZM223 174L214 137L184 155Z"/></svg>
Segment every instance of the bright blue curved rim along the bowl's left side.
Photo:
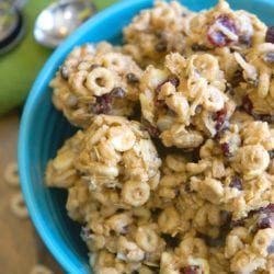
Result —
<svg viewBox="0 0 274 274"><path fill-rule="evenodd" d="M69 49L71 45L77 44L78 36L84 35L91 27L100 24L112 14L121 12L122 10L126 10L134 5L150 3L150 0L138 0L138 1L121 1L117 2L110 8L99 12L93 18L89 19L83 25L81 25L73 34L71 34L49 57L49 59L45 62L44 67L39 71L31 92L27 96L26 103L24 105L23 115L20 123L19 130L19 150L18 150L18 160L19 160L19 170L20 170L20 179L22 185L22 192L25 198L25 203L32 218L32 221L38 232L39 237L52 252L54 258L60 263L62 269L68 273L78 273L73 263L67 260L66 254L61 252L58 248L58 243L53 241L50 236L46 232L45 228L42 226L42 214L39 213L39 208L33 201L32 184L30 183L31 174L30 174L30 164L28 164L28 139L32 124L30 123L31 117L34 115L35 111L35 102L37 99L46 92L44 89L45 81L48 76L48 71L50 67L55 67L56 60L59 59L59 56Z"/></svg>

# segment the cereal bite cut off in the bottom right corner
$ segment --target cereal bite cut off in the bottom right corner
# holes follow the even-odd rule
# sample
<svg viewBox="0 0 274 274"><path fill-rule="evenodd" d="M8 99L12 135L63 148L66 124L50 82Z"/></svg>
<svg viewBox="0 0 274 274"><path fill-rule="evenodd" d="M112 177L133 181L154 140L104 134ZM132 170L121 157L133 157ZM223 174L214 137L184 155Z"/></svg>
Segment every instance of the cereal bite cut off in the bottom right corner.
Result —
<svg viewBox="0 0 274 274"><path fill-rule="evenodd" d="M272 273L274 204L251 210L232 225L225 246L232 273Z"/></svg>

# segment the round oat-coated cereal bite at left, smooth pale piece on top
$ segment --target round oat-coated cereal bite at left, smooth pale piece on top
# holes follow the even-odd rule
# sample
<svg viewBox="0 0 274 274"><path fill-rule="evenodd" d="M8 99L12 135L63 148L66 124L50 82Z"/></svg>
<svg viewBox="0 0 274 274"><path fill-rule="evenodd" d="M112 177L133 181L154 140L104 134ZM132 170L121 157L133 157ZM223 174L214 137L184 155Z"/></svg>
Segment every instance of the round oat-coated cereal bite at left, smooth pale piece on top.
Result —
<svg viewBox="0 0 274 274"><path fill-rule="evenodd" d="M141 206L159 183L160 165L157 150L139 123L99 115L49 161L46 180L50 186L70 187L80 174L91 192L118 189L122 203Z"/></svg>

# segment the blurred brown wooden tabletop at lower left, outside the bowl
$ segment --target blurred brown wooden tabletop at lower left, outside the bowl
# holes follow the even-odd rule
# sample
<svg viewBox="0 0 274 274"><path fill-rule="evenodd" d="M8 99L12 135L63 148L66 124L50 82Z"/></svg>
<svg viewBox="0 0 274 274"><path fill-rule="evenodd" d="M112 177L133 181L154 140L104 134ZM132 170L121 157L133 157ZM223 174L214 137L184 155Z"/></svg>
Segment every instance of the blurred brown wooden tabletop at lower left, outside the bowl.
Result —
<svg viewBox="0 0 274 274"><path fill-rule="evenodd" d="M8 185L3 171L16 161L20 111L0 117L0 273L28 274L39 263L53 273L65 273L39 240L30 218L19 219L11 213L11 197L19 187Z"/></svg>

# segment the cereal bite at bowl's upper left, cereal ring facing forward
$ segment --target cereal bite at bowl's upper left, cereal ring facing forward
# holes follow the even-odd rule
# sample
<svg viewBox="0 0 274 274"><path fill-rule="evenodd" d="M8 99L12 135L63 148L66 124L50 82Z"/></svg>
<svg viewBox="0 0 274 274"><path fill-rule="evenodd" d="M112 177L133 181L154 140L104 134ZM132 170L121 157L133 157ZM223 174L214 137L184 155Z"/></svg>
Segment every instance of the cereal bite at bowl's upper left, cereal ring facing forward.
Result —
<svg viewBox="0 0 274 274"><path fill-rule="evenodd" d="M107 43L76 47L52 80L53 102L68 121L87 128L98 114L130 116L141 69Z"/></svg>

